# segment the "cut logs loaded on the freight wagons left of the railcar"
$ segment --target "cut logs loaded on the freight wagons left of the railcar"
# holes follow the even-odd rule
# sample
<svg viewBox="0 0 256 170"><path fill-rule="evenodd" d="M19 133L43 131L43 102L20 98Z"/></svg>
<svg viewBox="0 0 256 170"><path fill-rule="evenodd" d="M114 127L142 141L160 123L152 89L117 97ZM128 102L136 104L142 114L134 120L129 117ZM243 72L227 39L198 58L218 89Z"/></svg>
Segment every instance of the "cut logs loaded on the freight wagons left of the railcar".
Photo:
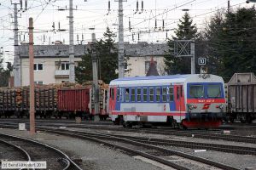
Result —
<svg viewBox="0 0 256 170"><path fill-rule="evenodd" d="M60 84L35 85L35 111L57 111L59 90L91 89L92 87L92 82L84 82L83 84L63 82ZM104 101L107 96L108 84L100 80L99 88L100 100ZM29 86L0 88L0 111L29 111L29 105Z"/></svg>

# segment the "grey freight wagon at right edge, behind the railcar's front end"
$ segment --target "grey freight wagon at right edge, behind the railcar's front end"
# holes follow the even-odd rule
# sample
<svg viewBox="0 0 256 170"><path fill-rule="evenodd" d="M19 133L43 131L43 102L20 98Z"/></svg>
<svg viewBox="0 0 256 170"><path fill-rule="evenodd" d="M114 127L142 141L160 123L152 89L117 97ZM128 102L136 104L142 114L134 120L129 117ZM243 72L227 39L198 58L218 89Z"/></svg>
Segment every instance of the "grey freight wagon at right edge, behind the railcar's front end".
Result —
<svg viewBox="0 0 256 170"><path fill-rule="evenodd" d="M230 122L252 122L256 119L256 77L253 73L235 73L227 88Z"/></svg>

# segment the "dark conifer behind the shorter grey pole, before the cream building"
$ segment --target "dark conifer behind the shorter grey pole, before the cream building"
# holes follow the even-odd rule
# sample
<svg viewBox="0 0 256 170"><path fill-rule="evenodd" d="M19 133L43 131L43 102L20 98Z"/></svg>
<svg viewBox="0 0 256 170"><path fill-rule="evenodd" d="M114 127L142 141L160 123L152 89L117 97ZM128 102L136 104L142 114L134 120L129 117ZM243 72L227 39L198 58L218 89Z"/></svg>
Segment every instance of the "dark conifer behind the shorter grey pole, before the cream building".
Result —
<svg viewBox="0 0 256 170"><path fill-rule="evenodd" d="M107 28L103 34L104 39L96 42L96 54L98 57L99 78L109 83L118 77L115 71L118 69L118 50L114 46L115 34ZM91 51L82 57L82 61L76 67L76 80L79 83L92 80Z"/></svg>

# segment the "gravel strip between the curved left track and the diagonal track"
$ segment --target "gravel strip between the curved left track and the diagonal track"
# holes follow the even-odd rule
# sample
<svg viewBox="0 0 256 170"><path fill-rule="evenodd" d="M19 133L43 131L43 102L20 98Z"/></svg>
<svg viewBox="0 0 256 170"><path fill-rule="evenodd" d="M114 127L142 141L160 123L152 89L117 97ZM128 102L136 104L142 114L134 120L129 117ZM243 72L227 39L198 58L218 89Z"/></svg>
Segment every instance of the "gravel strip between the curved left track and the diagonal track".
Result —
<svg viewBox="0 0 256 170"><path fill-rule="evenodd" d="M81 139L73 139L60 135L40 133L31 137L27 131L13 129L0 129L0 133L15 134L26 138L36 139L45 144L51 144L67 153L74 159L81 159L83 169L90 170L160 170L151 163L141 161L122 153L119 150L112 150L102 144L91 143ZM172 168L167 168L172 169Z"/></svg>

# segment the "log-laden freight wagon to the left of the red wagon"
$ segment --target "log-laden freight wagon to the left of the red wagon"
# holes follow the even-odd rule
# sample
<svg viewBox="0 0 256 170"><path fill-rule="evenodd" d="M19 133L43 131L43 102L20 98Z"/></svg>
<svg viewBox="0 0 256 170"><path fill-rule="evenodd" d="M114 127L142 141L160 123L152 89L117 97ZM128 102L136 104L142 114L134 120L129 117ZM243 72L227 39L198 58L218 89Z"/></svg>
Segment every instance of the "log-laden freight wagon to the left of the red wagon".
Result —
<svg viewBox="0 0 256 170"><path fill-rule="evenodd" d="M29 109L29 88L0 89L0 116L28 116ZM50 116L56 109L56 89L36 88L36 115Z"/></svg>

